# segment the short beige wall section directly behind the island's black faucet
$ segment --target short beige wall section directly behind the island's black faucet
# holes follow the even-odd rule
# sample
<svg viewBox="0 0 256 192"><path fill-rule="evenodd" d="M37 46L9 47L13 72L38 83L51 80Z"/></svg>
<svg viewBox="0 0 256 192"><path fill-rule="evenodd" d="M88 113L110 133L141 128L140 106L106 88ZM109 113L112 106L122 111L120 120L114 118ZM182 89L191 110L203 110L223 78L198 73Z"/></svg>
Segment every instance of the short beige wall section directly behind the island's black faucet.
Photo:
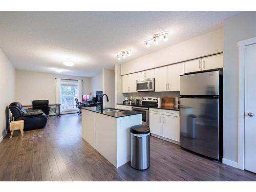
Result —
<svg viewBox="0 0 256 192"><path fill-rule="evenodd" d="M104 97L103 104L110 108L115 108L115 71L111 69L102 70L103 94L108 95L109 102Z"/></svg>

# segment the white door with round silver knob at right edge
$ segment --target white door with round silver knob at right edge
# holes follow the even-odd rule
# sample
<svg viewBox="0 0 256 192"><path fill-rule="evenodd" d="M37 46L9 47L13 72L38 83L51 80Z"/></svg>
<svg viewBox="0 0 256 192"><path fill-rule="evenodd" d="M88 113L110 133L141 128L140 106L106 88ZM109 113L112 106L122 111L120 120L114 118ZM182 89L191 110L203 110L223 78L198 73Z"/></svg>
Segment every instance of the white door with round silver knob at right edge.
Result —
<svg viewBox="0 0 256 192"><path fill-rule="evenodd" d="M256 173L255 76L256 44L245 47L245 169L254 173Z"/></svg>

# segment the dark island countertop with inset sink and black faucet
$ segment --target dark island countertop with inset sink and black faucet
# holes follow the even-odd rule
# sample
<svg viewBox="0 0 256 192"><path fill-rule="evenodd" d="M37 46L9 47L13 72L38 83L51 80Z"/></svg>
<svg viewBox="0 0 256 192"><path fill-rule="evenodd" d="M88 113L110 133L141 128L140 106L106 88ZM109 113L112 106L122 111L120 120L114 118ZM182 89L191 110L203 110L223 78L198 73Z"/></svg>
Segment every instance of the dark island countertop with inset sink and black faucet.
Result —
<svg viewBox="0 0 256 192"><path fill-rule="evenodd" d="M96 113L100 113L100 114L103 114L103 115L108 115L108 116L115 117L115 118L142 114L142 112L125 111L125 110L119 110L119 109L114 109L114 108L105 108L105 109L114 109L114 110L118 110L119 112L103 111L103 113L101 113L100 108L98 106L88 106L88 107L85 107L85 108L82 108L82 109L92 111L92 112L96 112Z"/></svg>

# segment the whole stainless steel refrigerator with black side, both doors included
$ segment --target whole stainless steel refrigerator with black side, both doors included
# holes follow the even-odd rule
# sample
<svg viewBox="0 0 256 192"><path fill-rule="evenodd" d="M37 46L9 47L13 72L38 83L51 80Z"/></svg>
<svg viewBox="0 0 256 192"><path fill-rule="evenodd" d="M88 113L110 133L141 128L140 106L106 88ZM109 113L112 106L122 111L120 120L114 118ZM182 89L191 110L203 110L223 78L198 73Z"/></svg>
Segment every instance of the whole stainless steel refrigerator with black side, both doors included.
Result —
<svg viewBox="0 0 256 192"><path fill-rule="evenodd" d="M180 76L180 146L223 157L222 69Z"/></svg>

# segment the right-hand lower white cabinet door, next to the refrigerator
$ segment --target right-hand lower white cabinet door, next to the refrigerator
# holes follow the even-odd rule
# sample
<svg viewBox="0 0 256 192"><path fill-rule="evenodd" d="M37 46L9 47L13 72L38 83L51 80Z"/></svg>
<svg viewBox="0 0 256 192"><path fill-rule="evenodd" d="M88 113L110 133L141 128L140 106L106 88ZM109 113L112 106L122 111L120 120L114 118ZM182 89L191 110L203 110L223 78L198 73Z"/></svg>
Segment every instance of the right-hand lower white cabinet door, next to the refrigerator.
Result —
<svg viewBox="0 0 256 192"><path fill-rule="evenodd" d="M163 137L180 142L179 117L163 115Z"/></svg>

